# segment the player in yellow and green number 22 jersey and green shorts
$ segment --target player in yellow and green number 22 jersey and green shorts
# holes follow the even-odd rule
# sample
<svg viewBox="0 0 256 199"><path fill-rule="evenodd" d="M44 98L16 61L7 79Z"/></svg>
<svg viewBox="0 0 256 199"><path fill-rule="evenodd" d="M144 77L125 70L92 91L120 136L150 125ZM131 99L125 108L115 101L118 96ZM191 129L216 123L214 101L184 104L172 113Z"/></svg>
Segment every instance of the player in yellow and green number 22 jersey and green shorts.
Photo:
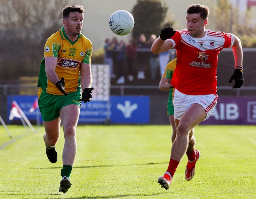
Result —
<svg viewBox="0 0 256 199"><path fill-rule="evenodd" d="M57 162L55 144L60 137L60 123L63 125L65 143L59 191L66 193L71 186L70 174L76 157L81 101L89 102L92 98L92 43L81 34L83 6L64 7L62 18L64 27L45 43L37 86L40 87L38 105L44 121L46 155L51 163Z"/></svg>

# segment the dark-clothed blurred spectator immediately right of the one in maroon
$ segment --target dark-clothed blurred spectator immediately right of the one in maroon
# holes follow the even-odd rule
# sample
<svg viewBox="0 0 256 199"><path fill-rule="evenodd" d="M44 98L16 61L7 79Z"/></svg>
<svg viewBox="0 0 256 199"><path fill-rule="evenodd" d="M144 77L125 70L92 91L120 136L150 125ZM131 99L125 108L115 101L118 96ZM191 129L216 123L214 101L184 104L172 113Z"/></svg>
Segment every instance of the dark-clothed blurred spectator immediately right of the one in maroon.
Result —
<svg viewBox="0 0 256 199"><path fill-rule="evenodd" d="M140 34L137 48L137 63L138 63L138 79L145 79L145 69L148 61L147 52L147 39L144 34Z"/></svg>

